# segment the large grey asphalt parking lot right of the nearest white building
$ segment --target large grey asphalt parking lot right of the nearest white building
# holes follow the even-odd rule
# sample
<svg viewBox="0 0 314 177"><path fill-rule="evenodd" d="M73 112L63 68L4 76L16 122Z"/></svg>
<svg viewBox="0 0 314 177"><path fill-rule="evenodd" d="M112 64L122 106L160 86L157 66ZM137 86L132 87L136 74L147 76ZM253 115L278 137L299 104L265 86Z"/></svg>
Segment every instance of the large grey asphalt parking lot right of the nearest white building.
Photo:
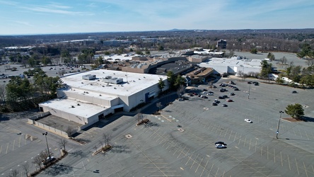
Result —
<svg viewBox="0 0 314 177"><path fill-rule="evenodd" d="M188 100L173 101L161 115L144 115L151 120L148 125L135 126L136 115L121 116L83 132L81 136L91 142L77 146L40 176L314 176L313 91L233 79L239 91L226 87L226 92L219 92L219 84L229 80L219 80L216 89L196 86L197 93L207 89L214 95L201 98L186 93ZM228 98L212 105L223 95ZM279 111L291 103L306 105L308 122L282 119L276 139ZM283 113L281 118L289 115ZM113 148L91 156L103 132L112 135ZM218 141L227 148L216 149ZM23 141L17 137L16 143Z"/></svg>

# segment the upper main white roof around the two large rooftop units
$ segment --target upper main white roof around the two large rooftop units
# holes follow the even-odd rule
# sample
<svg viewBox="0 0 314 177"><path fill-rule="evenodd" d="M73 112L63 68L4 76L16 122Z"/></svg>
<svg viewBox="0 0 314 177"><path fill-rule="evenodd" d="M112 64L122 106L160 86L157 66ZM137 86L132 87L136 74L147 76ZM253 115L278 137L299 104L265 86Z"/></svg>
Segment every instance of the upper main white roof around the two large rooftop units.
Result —
<svg viewBox="0 0 314 177"><path fill-rule="evenodd" d="M82 76L86 74L95 74L94 80L83 80ZM103 82L103 78L112 76L122 78L122 84L107 84ZM72 89L79 89L82 91L93 91L95 94L107 94L111 96L131 96L143 89L149 88L158 83L159 79L166 80L167 76L156 74L139 74L132 72L120 72L112 70L93 70L90 72L82 72L77 74L69 74L62 77L64 84L67 84Z"/></svg>

